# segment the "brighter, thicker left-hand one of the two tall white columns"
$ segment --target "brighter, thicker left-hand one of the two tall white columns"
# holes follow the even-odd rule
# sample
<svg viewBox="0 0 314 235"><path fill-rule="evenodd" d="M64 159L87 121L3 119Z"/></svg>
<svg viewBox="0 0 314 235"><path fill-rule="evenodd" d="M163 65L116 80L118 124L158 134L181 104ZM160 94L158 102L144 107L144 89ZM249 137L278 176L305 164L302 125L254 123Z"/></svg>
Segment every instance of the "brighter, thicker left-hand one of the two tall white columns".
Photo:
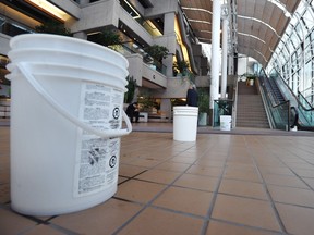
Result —
<svg viewBox="0 0 314 235"><path fill-rule="evenodd" d="M209 111L213 114L214 100L218 99L219 94L219 44L220 44L220 0L213 0L213 22L212 22L212 76L210 76L210 97ZM212 115L213 116L213 115ZM212 120L213 124L213 120Z"/></svg>

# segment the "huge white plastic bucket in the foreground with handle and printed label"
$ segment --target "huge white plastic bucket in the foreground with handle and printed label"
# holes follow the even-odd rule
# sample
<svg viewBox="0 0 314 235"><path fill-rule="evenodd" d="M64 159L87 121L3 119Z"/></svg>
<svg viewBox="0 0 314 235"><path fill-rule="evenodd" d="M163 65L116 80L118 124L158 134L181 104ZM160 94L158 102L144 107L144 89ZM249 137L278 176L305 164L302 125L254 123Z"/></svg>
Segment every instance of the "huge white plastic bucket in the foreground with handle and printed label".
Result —
<svg viewBox="0 0 314 235"><path fill-rule="evenodd" d="M8 66L12 209L53 215L106 201L117 191L120 137L132 131L123 111L128 61L98 45L55 35L17 36L10 45L11 54L16 51ZM56 49L59 61L41 52L45 62L37 60L36 45ZM19 51L27 46L34 51L21 59ZM69 61L71 50L76 55ZM122 72L117 75L112 64L100 59L97 66L81 64L99 54ZM121 129L122 116L126 129Z"/></svg>

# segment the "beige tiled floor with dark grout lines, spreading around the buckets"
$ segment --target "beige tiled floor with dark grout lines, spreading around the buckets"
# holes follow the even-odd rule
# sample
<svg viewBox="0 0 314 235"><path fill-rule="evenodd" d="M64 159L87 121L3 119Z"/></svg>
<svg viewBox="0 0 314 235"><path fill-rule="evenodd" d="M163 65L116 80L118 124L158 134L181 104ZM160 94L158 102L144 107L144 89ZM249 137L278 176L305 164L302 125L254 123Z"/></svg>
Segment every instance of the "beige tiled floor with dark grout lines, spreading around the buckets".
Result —
<svg viewBox="0 0 314 235"><path fill-rule="evenodd" d="M172 133L122 137L119 187L56 217L10 208L9 127L0 127L0 234L313 235L314 136ZM56 172L58 174L58 172Z"/></svg>

